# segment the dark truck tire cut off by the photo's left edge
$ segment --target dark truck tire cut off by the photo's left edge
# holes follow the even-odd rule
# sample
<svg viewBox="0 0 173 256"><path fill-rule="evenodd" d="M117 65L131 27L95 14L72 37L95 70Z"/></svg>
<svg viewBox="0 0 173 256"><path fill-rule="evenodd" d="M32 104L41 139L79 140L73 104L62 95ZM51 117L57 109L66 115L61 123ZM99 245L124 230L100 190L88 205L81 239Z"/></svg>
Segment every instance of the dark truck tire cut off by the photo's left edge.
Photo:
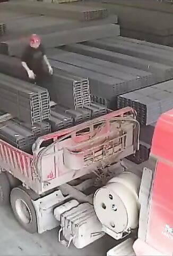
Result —
<svg viewBox="0 0 173 256"><path fill-rule="evenodd" d="M5 172L0 174L0 205L10 204L10 182Z"/></svg>

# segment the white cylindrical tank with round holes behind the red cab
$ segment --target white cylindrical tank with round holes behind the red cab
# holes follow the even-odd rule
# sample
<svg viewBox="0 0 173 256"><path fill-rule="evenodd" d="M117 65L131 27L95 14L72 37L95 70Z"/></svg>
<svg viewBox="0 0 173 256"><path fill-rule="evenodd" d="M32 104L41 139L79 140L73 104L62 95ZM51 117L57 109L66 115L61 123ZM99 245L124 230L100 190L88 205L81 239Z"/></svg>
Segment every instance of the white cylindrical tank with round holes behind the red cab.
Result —
<svg viewBox="0 0 173 256"><path fill-rule="evenodd" d="M123 172L96 191L94 209L104 227L115 233L137 228L140 183L136 174Z"/></svg>

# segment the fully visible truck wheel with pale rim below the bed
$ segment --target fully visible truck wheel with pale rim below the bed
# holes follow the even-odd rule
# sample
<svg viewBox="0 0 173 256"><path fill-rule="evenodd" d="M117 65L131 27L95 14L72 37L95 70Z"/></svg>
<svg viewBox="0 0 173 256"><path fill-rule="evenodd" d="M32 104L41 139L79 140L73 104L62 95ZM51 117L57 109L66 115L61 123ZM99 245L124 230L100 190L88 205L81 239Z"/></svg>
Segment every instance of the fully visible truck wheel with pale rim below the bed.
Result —
<svg viewBox="0 0 173 256"><path fill-rule="evenodd" d="M29 233L37 233L37 215L31 197L22 188L13 188L11 206L20 225Z"/></svg>

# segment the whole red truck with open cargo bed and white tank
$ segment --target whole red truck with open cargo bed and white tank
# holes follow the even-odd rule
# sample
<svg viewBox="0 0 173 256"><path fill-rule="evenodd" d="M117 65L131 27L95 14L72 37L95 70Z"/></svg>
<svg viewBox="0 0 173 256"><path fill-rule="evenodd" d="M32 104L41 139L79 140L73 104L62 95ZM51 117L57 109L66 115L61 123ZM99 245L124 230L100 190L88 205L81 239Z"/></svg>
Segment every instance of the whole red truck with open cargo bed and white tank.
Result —
<svg viewBox="0 0 173 256"><path fill-rule="evenodd" d="M131 107L43 135L32 154L0 140L0 203L11 203L29 233L57 227L67 247L108 234L120 242L108 256L172 255L172 125L170 110L155 125L143 170L125 160L140 142Z"/></svg>

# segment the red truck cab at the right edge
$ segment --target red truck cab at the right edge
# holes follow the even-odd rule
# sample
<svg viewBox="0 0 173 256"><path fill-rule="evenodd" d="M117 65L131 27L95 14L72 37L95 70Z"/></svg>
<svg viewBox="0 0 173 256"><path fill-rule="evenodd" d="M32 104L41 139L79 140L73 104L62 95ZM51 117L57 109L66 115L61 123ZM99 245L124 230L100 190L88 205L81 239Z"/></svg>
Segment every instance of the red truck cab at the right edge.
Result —
<svg viewBox="0 0 173 256"><path fill-rule="evenodd" d="M145 239L135 241L136 255L173 255L173 109L155 126L150 156L155 159ZM140 229L140 226L139 226Z"/></svg>

